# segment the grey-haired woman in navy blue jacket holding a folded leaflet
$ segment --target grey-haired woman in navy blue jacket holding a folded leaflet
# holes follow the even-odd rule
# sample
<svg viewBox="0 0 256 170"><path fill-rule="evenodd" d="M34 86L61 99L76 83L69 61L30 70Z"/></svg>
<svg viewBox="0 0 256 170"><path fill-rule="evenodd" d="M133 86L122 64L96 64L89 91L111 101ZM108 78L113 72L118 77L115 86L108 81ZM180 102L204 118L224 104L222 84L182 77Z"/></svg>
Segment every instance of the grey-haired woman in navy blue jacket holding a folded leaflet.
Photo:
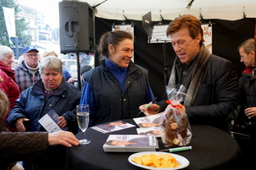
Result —
<svg viewBox="0 0 256 170"><path fill-rule="evenodd" d="M76 106L79 105L81 92L62 77L61 59L55 56L45 57L39 66L41 79L27 88L15 101L15 107L9 113L8 123L20 132L46 131L38 122L49 111L55 111L57 125L67 128L74 134L79 127L76 118ZM49 147L49 155L43 159L24 161L24 167L33 169L63 169L67 148Z"/></svg>

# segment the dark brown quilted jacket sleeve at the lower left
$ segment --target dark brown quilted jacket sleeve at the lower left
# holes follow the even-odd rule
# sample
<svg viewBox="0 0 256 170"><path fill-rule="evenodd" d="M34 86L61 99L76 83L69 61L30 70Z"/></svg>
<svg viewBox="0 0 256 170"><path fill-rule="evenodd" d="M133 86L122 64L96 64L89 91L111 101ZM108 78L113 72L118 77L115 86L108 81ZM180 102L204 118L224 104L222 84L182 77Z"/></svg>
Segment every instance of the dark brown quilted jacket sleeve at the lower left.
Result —
<svg viewBox="0 0 256 170"><path fill-rule="evenodd" d="M48 133L0 133L0 169L7 163L44 156L48 147Z"/></svg>

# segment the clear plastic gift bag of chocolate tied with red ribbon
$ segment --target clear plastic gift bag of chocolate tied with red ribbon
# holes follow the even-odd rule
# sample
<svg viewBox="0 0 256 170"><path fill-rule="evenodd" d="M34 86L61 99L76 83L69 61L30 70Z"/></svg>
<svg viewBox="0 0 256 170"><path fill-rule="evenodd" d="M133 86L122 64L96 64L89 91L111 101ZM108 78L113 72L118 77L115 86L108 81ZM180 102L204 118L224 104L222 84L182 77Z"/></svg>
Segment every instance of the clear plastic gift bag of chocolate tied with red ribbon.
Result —
<svg viewBox="0 0 256 170"><path fill-rule="evenodd" d="M178 88L166 88L168 100L166 111L160 118L160 126L163 130L161 139L165 146L185 146L190 143L192 131L189 118L179 105L185 99L186 89L183 85Z"/></svg>

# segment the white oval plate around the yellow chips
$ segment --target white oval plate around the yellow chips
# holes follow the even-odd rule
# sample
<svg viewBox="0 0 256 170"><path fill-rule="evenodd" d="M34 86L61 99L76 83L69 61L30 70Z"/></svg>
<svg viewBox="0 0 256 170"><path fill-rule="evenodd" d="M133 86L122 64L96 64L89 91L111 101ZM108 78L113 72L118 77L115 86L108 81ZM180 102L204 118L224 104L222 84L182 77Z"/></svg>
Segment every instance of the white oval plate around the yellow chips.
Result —
<svg viewBox="0 0 256 170"><path fill-rule="evenodd" d="M143 165L137 164L134 161L131 161L133 159L133 157L139 157L139 156L149 155L149 154L155 154L155 155L168 154L168 155L171 155L171 156L175 157L176 161L180 164L180 166L179 167L148 167L148 166L143 166ZM177 154L171 154L171 153L160 152L160 151L137 152L137 153L132 154L131 156L129 156L128 161L130 161L131 164L133 164L137 167L143 167L145 169L152 169L152 170L172 170L172 169L181 169L181 168L189 166L189 160L187 160L185 157L179 156Z"/></svg>

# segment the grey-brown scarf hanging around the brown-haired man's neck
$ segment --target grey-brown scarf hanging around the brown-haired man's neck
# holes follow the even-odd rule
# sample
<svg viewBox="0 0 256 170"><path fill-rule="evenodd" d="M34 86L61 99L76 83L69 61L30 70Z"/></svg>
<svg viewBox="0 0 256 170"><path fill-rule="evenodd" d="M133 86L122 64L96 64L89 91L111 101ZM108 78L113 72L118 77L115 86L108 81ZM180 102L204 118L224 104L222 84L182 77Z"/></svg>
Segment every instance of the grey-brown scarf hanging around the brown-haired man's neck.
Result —
<svg viewBox="0 0 256 170"><path fill-rule="evenodd" d="M187 91L187 96L184 99L184 106L190 106L193 104L193 101L195 99L195 96L197 94L198 88L201 85L201 79L204 76L204 71L207 68L207 63L210 59L211 53L208 50L208 48L204 45L204 43L201 46L200 52L198 56L196 57L195 61L191 65L192 71L188 72L187 78L191 81L189 81L188 85L184 85L185 87L189 87ZM168 87L170 88L176 88L176 62L177 62L177 57L173 62L172 66L172 72L171 72L171 77L169 79ZM186 80L184 80L186 82ZM188 81L187 81L188 82Z"/></svg>

